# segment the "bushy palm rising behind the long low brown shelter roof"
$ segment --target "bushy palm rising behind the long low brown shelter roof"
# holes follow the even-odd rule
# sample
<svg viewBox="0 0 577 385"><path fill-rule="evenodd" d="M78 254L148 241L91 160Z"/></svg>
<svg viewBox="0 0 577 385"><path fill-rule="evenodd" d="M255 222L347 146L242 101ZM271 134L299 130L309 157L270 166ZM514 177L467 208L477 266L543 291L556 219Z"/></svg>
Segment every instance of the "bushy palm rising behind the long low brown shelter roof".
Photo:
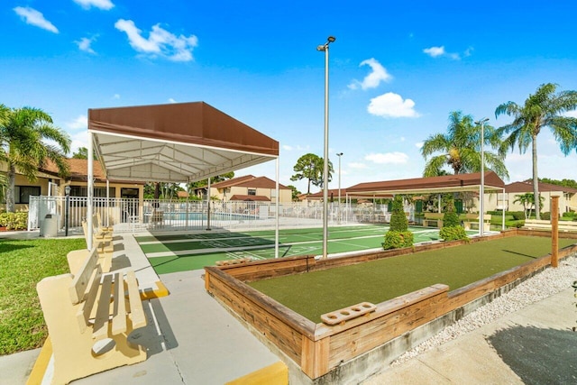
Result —
<svg viewBox="0 0 577 385"><path fill-rule="evenodd" d="M485 145L498 148L499 137L490 124L484 127ZM504 155L483 151L486 168L495 171L501 178L508 178ZM463 115L461 111L449 114L447 133L435 133L426 139L421 148L421 154L426 160L424 177L442 175L444 166L453 169L454 174L481 171L481 125L474 124L471 115ZM436 154L436 155L434 155Z"/></svg>

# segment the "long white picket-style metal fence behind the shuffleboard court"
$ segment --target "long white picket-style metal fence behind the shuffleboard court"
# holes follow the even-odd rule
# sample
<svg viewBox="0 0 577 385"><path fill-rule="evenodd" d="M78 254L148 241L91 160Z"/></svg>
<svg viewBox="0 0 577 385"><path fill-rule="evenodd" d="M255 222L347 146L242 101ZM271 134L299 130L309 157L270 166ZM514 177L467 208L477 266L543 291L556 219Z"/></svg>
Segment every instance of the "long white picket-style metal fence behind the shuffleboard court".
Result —
<svg viewBox="0 0 577 385"><path fill-rule="evenodd" d="M68 212L67 212L68 206ZM87 197L31 197L28 229L42 229L46 215L57 221L58 232L82 232L87 216ZM186 231L207 228L267 229L276 223L275 204L261 202L210 202L128 198L94 198L94 214L102 225L112 225L114 232ZM386 205L328 206L328 224L346 225L361 222L389 222ZM54 219L56 218L56 219ZM279 205L279 225L282 227L316 227L323 224L322 202L295 202Z"/></svg>

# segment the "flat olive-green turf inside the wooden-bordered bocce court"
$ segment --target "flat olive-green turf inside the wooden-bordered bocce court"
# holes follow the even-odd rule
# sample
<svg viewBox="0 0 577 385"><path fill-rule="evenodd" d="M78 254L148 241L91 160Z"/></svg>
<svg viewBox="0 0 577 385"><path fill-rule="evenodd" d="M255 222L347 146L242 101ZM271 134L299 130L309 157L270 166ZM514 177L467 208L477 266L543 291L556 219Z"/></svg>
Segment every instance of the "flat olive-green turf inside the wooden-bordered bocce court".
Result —
<svg viewBox="0 0 577 385"><path fill-rule="evenodd" d="M559 239L559 247L575 240ZM362 301L378 304L435 283L459 289L551 252L551 239L517 236L249 283L313 322Z"/></svg>

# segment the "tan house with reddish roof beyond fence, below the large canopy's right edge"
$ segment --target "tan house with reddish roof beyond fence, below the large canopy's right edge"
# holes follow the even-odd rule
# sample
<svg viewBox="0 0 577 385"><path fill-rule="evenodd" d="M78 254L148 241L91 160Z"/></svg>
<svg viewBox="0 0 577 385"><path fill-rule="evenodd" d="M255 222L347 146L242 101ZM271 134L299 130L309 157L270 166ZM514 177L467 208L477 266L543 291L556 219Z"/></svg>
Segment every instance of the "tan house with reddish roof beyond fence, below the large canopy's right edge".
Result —
<svg viewBox="0 0 577 385"><path fill-rule="evenodd" d="M217 197L224 202L254 201L275 203L277 201L276 182L267 177L245 175L211 185L210 196ZM292 190L279 183L279 203L290 203L291 201Z"/></svg>

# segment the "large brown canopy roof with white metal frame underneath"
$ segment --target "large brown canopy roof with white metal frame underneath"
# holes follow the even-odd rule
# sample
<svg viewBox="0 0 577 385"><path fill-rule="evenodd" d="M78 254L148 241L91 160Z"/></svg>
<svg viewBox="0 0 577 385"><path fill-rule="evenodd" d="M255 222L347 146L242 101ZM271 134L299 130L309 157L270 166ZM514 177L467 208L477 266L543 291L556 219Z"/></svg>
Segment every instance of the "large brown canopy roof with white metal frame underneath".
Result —
<svg viewBox="0 0 577 385"><path fill-rule="evenodd" d="M279 142L204 102L88 110L108 179L187 182L279 156Z"/></svg>

